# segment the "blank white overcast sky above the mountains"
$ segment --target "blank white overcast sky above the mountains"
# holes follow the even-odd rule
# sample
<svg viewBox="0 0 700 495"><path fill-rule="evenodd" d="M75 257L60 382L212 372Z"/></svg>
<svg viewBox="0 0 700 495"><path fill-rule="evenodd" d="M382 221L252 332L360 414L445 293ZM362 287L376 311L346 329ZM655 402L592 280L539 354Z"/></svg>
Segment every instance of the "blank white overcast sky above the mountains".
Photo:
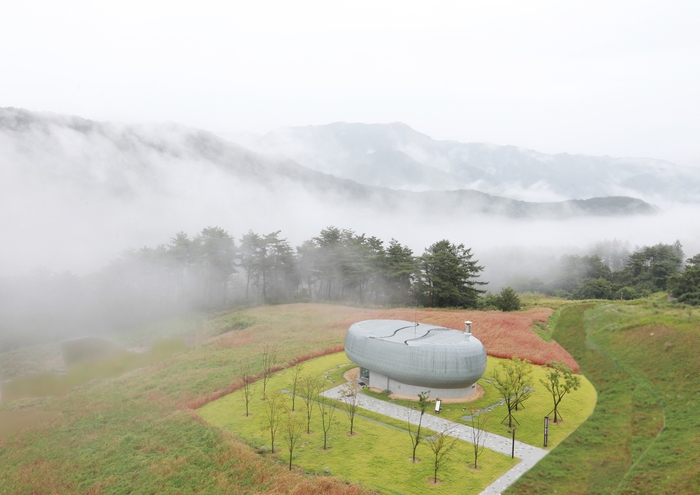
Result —
<svg viewBox="0 0 700 495"><path fill-rule="evenodd" d="M0 106L700 165L700 2L5 2Z"/></svg>

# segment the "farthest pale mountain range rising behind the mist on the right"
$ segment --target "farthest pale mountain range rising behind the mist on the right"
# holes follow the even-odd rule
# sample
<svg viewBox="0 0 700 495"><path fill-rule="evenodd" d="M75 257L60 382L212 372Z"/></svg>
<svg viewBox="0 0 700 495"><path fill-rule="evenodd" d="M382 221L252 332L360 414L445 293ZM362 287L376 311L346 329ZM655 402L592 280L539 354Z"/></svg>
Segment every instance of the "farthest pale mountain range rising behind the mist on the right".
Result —
<svg viewBox="0 0 700 495"><path fill-rule="evenodd" d="M283 127L246 146L314 170L404 190L476 189L542 201L633 196L700 199L700 171L651 158L548 155L515 146L438 141L403 123Z"/></svg>

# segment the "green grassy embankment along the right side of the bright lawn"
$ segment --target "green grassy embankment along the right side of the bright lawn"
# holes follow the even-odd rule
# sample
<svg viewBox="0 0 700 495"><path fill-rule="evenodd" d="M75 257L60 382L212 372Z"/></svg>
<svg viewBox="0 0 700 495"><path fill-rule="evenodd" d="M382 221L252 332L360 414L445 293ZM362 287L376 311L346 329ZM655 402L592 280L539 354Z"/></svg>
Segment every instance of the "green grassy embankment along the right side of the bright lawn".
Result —
<svg viewBox="0 0 700 495"><path fill-rule="evenodd" d="M598 391L593 415L509 493L700 493L697 310L564 308L554 338Z"/></svg>

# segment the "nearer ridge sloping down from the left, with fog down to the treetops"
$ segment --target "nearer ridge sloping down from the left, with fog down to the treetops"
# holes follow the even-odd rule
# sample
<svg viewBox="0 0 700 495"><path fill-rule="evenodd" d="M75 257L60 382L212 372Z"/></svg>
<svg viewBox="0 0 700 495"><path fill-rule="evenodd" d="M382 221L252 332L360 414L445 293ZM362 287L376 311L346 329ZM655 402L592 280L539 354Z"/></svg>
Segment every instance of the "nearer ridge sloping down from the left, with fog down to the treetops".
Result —
<svg viewBox="0 0 700 495"><path fill-rule="evenodd" d="M207 226L236 237L282 230L296 245L331 225L401 239L415 252L439 239L464 243L493 272L500 265L487 256L496 246L583 244L584 237L648 244L659 242L660 230L685 225L677 209L649 215L658 209L630 197L533 203L449 189L370 186L179 124L125 125L5 108L0 274L42 266L88 273L124 249Z"/></svg>

